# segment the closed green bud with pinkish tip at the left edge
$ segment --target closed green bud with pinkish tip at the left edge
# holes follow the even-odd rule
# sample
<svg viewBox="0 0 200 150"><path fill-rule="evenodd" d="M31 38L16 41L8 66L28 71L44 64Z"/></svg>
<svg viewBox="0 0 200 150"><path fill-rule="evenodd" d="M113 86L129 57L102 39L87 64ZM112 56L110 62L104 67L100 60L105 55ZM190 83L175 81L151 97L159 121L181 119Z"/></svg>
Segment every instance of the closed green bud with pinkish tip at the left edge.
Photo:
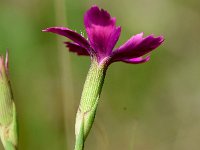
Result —
<svg viewBox="0 0 200 150"><path fill-rule="evenodd" d="M0 137L5 150L17 149L17 120L10 81L8 53L0 56Z"/></svg>

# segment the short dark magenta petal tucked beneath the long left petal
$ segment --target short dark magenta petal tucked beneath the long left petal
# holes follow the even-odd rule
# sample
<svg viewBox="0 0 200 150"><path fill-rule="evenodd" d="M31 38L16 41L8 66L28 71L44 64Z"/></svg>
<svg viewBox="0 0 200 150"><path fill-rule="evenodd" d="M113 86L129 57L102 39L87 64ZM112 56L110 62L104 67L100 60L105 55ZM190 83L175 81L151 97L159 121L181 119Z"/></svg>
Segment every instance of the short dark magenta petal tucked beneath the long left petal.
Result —
<svg viewBox="0 0 200 150"><path fill-rule="evenodd" d="M72 42L64 42L64 43L66 44L66 47L69 48L70 52L77 53L78 55L85 55L85 56L90 55L84 47L82 47L76 43L72 43Z"/></svg>

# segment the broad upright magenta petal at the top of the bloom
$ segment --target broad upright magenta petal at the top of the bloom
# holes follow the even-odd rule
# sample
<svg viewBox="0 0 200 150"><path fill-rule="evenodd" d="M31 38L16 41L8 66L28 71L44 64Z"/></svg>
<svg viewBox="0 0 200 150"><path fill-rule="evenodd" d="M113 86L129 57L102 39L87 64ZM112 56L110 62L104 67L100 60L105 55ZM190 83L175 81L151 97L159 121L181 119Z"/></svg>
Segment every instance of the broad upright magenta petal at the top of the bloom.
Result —
<svg viewBox="0 0 200 150"><path fill-rule="evenodd" d="M90 8L84 16L86 32L92 48L102 60L110 56L112 49L119 39L121 28L115 26L116 19L97 6Z"/></svg>

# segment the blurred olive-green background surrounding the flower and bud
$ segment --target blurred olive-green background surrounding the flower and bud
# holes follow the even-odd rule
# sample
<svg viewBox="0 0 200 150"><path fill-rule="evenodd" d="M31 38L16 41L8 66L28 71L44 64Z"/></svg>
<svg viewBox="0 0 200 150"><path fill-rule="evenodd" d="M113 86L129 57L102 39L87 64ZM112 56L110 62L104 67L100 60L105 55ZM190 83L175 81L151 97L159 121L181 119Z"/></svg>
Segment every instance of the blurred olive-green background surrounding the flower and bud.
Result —
<svg viewBox="0 0 200 150"><path fill-rule="evenodd" d="M41 30L84 32L83 14L93 4L122 26L118 45L142 31L165 42L148 63L110 66L85 149L199 150L199 0L0 0L0 53L9 49L19 149L73 149L90 60Z"/></svg>

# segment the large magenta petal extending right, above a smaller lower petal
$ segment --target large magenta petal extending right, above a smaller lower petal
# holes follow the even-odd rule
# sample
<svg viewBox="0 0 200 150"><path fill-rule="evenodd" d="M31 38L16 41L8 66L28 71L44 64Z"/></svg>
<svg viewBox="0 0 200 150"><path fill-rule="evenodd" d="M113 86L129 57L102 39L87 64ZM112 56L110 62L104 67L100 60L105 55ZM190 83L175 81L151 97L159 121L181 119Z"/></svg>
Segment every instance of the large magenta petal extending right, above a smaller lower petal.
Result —
<svg viewBox="0 0 200 150"><path fill-rule="evenodd" d="M141 57L157 48L164 41L162 36L149 35L145 38L142 36L143 33L140 33L131 37L125 44L115 50L112 54L113 61Z"/></svg>

